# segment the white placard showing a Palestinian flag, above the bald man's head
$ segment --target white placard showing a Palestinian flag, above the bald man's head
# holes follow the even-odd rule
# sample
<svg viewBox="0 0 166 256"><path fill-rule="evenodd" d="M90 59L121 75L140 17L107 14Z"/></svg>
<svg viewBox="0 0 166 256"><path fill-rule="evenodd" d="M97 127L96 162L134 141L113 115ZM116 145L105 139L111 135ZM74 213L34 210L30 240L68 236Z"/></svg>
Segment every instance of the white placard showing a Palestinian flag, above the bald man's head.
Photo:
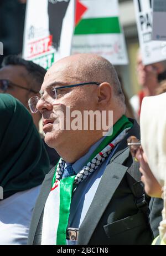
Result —
<svg viewBox="0 0 166 256"><path fill-rule="evenodd" d="M71 52L95 53L114 65L128 64L117 0L76 0Z"/></svg>

